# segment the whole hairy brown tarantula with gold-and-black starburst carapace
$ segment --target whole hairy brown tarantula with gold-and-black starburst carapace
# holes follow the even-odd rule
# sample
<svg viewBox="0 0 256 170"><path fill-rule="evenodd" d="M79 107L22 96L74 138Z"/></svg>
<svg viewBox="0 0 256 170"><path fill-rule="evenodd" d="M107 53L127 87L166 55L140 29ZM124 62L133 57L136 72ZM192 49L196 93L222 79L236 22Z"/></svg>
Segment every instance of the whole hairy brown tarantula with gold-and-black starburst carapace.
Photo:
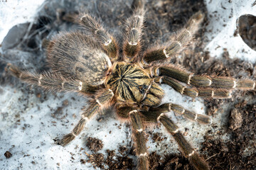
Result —
<svg viewBox="0 0 256 170"><path fill-rule="evenodd" d="M48 63L52 71L43 74L24 72L11 64L8 69L28 84L52 91L75 91L92 98L89 106L82 111L78 124L60 140L60 145L68 145L74 140L85 123L100 109L114 107L117 118L132 125L138 169L149 169L144 132L146 123L162 123L178 143L183 156L196 169L209 169L166 113L174 111L201 124L210 124L211 119L174 103L159 106L164 96L159 84L168 84L179 93L193 98L230 98L233 89L255 90L256 82L195 75L173 64L156 64L183 50L198 30L204 15L199 11L191 16L173 42L140 52L144 9L143 5L138 6L127 19L122 53L119 53L116 40L107 33L102 22L89 14L81 14L77 21L83 30L61 33L49 43Z"/></svg>

